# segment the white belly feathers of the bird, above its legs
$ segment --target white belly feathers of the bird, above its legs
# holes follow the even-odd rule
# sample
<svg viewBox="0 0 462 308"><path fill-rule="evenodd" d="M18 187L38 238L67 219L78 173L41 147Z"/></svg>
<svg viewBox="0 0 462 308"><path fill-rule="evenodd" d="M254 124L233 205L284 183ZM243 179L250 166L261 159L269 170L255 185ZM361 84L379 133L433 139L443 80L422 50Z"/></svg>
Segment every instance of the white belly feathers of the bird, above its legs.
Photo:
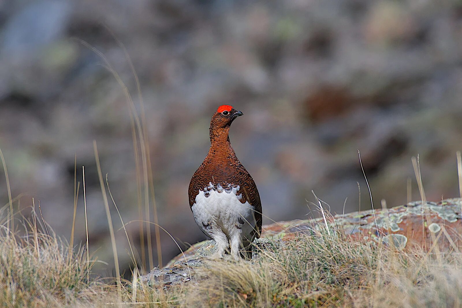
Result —
<svg viewBox="0 0 462 308"><path fill-rule="evenodd" d="M215 239L217 232L223 232L228 240L240 234L241 241L249 242L255 228L255 208L248 201L241 203L242 194L237 195L239 186L213 187L212 183L199 191L192 206L194 219L205 234Z"/></svg>

